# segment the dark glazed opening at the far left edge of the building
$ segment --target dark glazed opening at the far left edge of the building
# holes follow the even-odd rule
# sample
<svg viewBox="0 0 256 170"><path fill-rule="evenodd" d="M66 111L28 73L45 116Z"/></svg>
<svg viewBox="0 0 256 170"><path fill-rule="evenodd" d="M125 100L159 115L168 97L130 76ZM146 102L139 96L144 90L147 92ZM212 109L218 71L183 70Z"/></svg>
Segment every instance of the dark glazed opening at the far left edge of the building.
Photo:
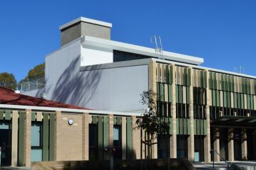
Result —
<svg viewBox="0 0 256 170"><path fill-rule="evenodd" d="M0 122L1 166L11 165L11 124Z"/></svg>

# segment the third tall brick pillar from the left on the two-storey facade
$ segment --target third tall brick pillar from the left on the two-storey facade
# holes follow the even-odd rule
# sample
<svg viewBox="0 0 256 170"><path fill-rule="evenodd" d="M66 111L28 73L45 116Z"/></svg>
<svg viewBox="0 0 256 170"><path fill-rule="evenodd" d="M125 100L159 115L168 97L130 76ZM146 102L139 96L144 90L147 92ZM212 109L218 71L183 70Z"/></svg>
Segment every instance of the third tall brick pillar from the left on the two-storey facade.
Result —
<svg viewBox="0 0 256 170"><path fill-rule="evenodd" d="M193 69L189 68L190 72L190 86L189 86L189 122L191 133L187 138L187 158L189 161L195 161L195 140L194 140L194 102L193 102Z"/></svg>

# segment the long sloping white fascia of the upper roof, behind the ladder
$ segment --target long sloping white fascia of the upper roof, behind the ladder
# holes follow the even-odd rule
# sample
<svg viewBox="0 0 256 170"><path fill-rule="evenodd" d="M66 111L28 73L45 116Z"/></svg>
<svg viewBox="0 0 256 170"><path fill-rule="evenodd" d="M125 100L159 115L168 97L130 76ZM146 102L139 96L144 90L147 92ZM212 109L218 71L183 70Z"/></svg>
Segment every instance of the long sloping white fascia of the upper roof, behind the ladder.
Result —
<svg viewBox="0 0 256 170"><path fill-rule="evenodd" d="M153 58L159 58L155 53L154 48L148 48L145 46L138 46L134 44L127 44L124 42L111 41L107 39L99 39L95 37L84 36L81 37L81 43L86 46L97 46L101 48L107 48L111 50L121 50L124 52L132 52L135 54L142 54L145 56L151 56ZM177 62L185 62L189 64L199 65L203 63L203 58L188 56L185 54L178 54L175 52L163 51L163 57L167 60L174 60Z"/></svg>

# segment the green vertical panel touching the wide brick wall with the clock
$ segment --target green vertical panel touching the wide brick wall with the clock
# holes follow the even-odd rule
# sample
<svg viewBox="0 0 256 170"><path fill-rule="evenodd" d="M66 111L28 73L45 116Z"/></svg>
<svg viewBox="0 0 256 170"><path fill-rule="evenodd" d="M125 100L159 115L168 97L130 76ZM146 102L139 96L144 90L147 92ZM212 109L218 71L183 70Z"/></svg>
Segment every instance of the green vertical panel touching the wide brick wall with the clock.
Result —
<svg viewBox="0 0 256 170"><path fill-rule="evenodd" d="M50 134L49 134L49 160L53 161L54 160L54 133L55 133L55 114L49 114L49 119L50 119Z"/></svg>

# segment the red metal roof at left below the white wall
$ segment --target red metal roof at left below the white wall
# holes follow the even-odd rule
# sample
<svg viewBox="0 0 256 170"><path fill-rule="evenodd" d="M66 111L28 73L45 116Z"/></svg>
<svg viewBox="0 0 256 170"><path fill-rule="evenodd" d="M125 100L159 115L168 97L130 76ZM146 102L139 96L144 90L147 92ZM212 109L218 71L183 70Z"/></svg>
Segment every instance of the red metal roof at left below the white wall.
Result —
<svg viewBox="0 0 256 170"><path fill-rule="evenodd" d="M88 108L82 108L79 106L73 106L73 105L64 104L61 102L54 102L52 100L45 100L42 98L34 98L31 96L26 96L24 94L17 94L13 90L9 90L1 86L0 86L0 104L90 110Z"/></svg>

